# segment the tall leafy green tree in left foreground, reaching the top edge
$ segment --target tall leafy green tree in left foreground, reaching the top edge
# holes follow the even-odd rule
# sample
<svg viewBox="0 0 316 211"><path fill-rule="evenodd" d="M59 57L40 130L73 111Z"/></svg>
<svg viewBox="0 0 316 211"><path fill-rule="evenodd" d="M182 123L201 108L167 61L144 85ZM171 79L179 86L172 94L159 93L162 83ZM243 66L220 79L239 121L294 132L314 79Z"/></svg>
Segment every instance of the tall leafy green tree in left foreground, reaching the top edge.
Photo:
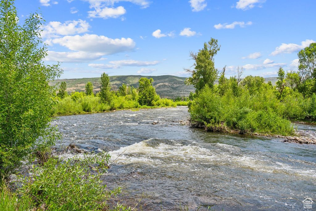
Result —
<svg viewBox="0 0 316 211"><path fill-rule="evenodd" d="M42 21L31 14L20 26L14 1L0 3L0 179L58 138L50 124L56 87L48 81L62 70L42 62L47 55Z"/></svg>

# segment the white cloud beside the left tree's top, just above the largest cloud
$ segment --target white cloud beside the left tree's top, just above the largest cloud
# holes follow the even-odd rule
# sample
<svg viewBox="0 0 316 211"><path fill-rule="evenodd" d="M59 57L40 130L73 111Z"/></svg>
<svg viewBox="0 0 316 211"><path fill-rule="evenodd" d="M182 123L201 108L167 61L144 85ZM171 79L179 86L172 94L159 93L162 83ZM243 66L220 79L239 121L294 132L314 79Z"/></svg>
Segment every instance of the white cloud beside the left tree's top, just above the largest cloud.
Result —
<svg viewBox="0 0 316 211"><path fill-rule="evenodd" d="M58 35L72 35L78 33L88 32L90 27L87 21L79 19L78 21L65 21L64 23L58 21L51 21L44 25L42 37L59 37Z"/></svg>

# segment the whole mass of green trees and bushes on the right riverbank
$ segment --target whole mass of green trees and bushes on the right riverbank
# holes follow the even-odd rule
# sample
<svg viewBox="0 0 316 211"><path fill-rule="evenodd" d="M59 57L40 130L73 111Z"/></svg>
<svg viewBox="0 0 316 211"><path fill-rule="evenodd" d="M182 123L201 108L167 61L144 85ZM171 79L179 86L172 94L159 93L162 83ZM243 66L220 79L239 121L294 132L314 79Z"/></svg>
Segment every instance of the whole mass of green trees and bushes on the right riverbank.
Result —
<svg viewBox="0 0 316 211"><path fill-rule="evenodd" d="M315 58L305 59L308 54L304 53L316 54L316 43L299 52L297 72L285 74L282 67L279 68L276 86L264 83L260 76L242 78L243 69L239 67L234 77L225 77L226 67L219 74L213 58L219 49L217 40L211 39L197 54L191 53L195 63L194 69L187 69L191 73L187 83L196 87L194 99L189 103L192 127L293 136L295 129L290 120L316 121L316 69L309 71L310 65L306 64ZM214 85L216 79L218 84Z"/></svg>

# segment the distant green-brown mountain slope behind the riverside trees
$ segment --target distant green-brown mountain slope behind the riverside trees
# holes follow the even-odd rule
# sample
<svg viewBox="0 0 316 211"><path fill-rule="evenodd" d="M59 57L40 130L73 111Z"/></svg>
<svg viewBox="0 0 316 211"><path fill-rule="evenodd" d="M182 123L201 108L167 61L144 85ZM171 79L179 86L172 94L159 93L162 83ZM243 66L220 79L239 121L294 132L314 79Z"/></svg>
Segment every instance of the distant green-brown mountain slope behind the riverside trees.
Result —
<svg viewBox="0 0 316 211"><path fill-rule="evenodd" d="M123 83L131 85L135 88L138 87L138 80L141 77L153 78L153 86L156 87L156 92L161 97L177 97L177 96L189 96L190 92L194 92L195 88L190 85L184 84L185 77L178 77L173 75L160 75L160 76L143 76L143 75L115 75L110 76L110 82L113 90L117 90ZM270 77L265 78L265 82L271 81L275 85L277 78ZM75 79L58 79L51 81L50 85L54 85L61 81L67 83L67 92L84 91L85 85L88 81L91 81L94 87L94 93L100 90L100 77L98 78L75 78ZM218 81L215 81L218 83ZM59 84L57 87L59 87Z"/></svg>

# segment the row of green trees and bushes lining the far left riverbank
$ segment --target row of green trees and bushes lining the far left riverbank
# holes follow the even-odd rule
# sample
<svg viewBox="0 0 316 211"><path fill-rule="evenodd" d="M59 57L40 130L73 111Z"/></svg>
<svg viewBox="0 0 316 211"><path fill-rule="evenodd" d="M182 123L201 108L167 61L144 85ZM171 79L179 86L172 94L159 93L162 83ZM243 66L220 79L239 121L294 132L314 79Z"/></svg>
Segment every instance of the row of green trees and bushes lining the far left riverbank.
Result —
<svg viewBox="0 0 316 211"><path fill-rule="evenodd" d="M94 95L92 83L86 84L86 92L74 92L68 95L66 83L62 82L57 97L54 116L98 113L120 109L175 107L177 102L161 99L152 86L153 79L141 78L139 88L123 84L119 90L111 91L109 77L101 75L100 92ZM181 102L182 103L182 102ZM182 103L184 104L184 103Z"/></svg>

